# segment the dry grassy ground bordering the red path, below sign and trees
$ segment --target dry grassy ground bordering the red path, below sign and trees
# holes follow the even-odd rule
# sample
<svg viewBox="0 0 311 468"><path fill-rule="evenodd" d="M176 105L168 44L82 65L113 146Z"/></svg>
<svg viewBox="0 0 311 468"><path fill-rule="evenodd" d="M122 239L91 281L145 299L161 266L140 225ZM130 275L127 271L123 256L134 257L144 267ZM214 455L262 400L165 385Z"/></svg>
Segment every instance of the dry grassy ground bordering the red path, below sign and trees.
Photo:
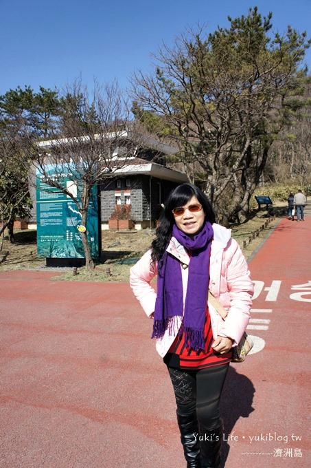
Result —
<svg viewBox="0 0 311 468"><path fill-rule="evenodd" d="M239 226L231 226L232 237L240 244L246 259L263 242L264 238L284 216L283 209L269 217L265 211L260 211L248 222ZM127 282L130 266L145 253L152 239L154 229L142 231L102 231L102 258L95 270L87 271L78 268L78 275L73 275L73 268L54 268L58 281L117 281ZM16 231L15 242L10 244L8 237L3 240L0 252L0 271L17 269L51 270L47 268L44 258L36 253L36 231ZM60 270L62 275L59 275Z"/></svg>

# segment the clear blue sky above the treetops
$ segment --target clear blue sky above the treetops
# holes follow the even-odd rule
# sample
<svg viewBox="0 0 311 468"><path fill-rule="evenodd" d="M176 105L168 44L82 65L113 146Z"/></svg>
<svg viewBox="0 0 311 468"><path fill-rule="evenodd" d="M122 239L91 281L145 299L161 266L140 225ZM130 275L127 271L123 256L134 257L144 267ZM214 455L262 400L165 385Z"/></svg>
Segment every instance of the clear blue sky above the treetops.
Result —
<svg viewBox="0 0 311 468"><path fill-rule="evenodd" d="M148 72L152 53L198 23L227 27L257 6L273 12L273 30L291 25L310 36L310 0L0 0L0 94L18 85L62 89L77 78L89 89L135 69ZM306 58L311 69L311 51Z"/></svg>

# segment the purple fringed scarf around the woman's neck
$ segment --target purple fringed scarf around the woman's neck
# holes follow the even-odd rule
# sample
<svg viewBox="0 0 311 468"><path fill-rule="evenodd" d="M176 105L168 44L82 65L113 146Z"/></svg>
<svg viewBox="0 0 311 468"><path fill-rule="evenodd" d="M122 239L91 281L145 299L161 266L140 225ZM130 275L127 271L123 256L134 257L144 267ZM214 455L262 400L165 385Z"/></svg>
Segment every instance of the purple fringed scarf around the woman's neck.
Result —
<svg viewBox="0 0 311 468"><path fill-rule="evenodd" d="M181 263L167 251L158 272L157 299L154 308L152 338L161 338L167 328L171 333L175 317L183 317L180 333L184 334L186 348L204 350L204 324L209 287L209 255L214 231L205 222L202 230L192 239L176 224L172 235L191 252L185 312L183 315L183 284Z"/></svg>

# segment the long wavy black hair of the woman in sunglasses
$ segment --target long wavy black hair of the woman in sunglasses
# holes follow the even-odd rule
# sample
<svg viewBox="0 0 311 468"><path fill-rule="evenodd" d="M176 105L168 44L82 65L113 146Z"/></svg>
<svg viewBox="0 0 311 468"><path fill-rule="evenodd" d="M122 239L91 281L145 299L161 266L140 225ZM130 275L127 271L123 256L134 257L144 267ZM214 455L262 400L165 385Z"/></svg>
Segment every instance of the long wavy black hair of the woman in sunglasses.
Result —
<svg viewBox="0 0 311 468"><path fill-rule="evenodd" d="M161 257L165 252L165 248L168 246L168 242L172 237L172 229L175 223L172 209L176 208L176 206L184 206L193 196L198 199L198 202L203 207L205 221L209 221L211 224L216 221L216 216L211 207L211 203L203 191L189 183L178 185L178 187L173 189L170 195L168 195L168 200L166 200L164 209L161 213L159 226L156 231L157 237L151 244L151 257L153 262L161 260Z"/></svg>

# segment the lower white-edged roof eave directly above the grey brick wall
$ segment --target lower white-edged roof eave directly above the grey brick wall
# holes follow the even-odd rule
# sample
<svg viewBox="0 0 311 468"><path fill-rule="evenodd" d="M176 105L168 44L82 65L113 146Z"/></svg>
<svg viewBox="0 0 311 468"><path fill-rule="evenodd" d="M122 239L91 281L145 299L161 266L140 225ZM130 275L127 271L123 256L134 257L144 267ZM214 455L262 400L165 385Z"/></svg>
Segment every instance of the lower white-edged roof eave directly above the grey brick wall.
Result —
<svg viewBox="0 0 311 468"><path fill-rule="evenodd" d="M114 173L119 175L149 175L172 182L188 182L185 173L169 169L168 167L161 166L154 162L148 162L146 164L126 164L124 167L116 169Z"/></svg>

